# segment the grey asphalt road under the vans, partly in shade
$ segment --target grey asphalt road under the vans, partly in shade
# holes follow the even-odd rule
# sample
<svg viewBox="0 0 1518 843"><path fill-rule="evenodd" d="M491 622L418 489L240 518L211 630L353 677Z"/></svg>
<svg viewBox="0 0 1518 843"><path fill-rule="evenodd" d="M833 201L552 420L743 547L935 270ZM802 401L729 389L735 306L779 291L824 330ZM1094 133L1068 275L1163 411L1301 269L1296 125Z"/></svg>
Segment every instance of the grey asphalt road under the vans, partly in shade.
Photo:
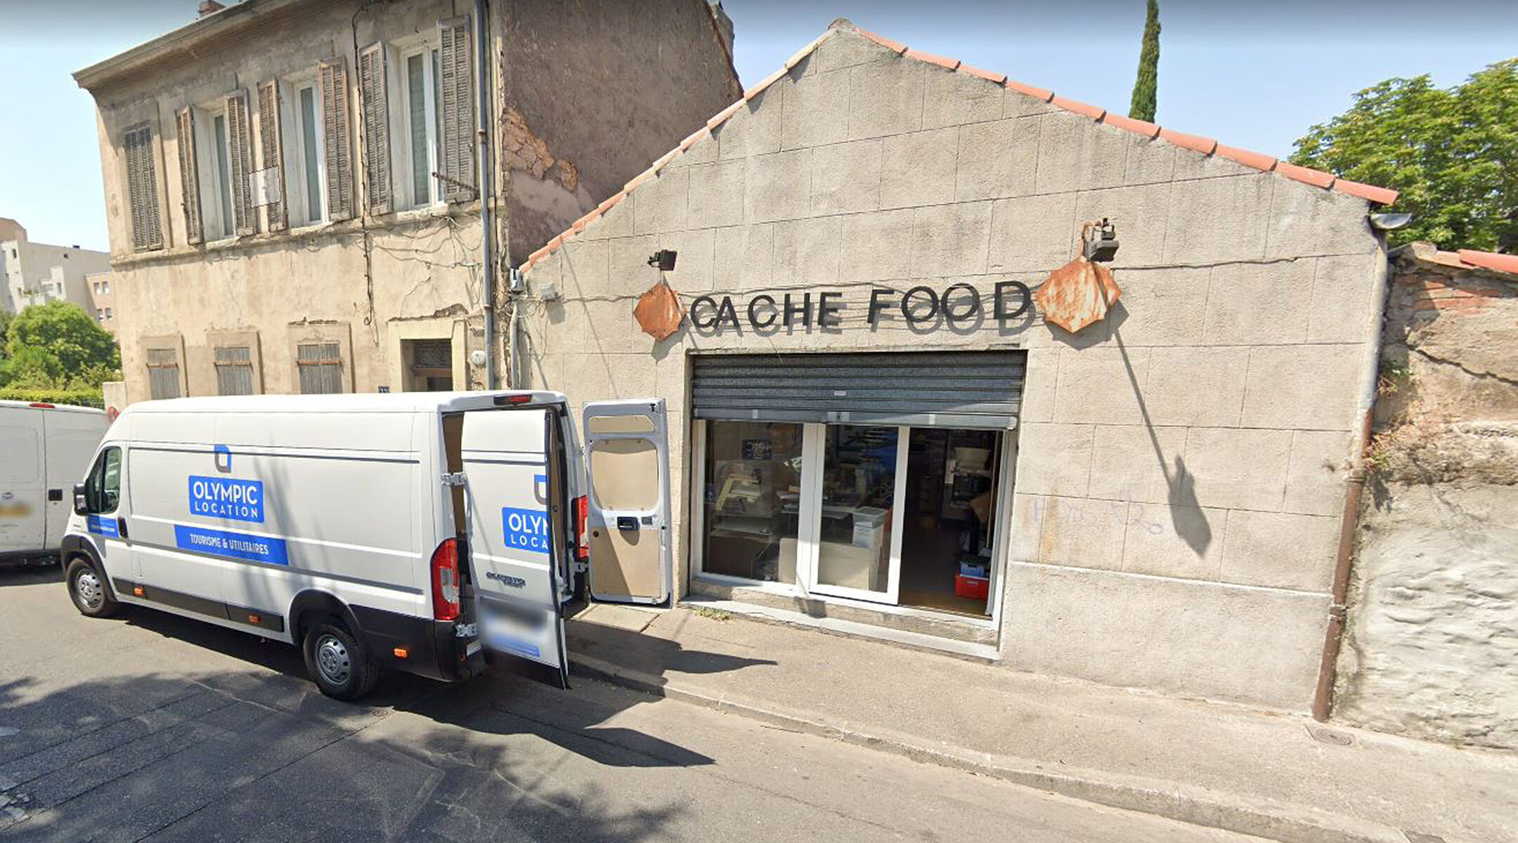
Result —
<svg viewBox="0 0 1518 843"><path fill-rule="evenodd" d="M932 705L932 700L923 700ZM0 570L0 840L1252 840L509 672L319 694L294 647Z"/></svg>

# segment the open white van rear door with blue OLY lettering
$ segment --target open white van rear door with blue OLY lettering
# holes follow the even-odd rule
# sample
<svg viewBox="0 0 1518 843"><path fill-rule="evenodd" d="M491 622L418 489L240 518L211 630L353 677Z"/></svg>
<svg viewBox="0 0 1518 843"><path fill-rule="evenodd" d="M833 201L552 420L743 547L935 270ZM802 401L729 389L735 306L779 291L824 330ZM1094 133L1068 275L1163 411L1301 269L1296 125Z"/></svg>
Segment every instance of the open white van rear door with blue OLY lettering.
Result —
<svg viewBox="0 0 1518 843"><path fill-rule="evenodd" d="M569 544L563 405L474 409L460 435L480 640L569 687L559 613Z"/></svg>

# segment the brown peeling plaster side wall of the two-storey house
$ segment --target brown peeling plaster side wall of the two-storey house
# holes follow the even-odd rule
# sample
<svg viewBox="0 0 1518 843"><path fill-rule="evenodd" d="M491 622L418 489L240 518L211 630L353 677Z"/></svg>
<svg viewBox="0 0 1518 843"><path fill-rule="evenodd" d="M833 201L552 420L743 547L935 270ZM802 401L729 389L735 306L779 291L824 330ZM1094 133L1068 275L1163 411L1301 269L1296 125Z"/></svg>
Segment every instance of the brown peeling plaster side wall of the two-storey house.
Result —
<svg viewBox="0 0 1518 843"><path fill-rule="evenodd" d="M516 0L505 18L513 265L742 96L706 0Z"/></svg>

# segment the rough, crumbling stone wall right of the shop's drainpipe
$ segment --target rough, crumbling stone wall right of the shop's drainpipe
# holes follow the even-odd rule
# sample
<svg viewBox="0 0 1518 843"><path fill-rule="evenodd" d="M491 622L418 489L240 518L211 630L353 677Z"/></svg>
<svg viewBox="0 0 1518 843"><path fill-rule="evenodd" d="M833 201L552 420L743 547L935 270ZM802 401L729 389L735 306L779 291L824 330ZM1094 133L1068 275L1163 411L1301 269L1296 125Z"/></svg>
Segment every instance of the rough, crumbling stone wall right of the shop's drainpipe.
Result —
<svg viewBox="0 0 1518 843"><path fill-rule="evenodd" d="M1518 747L1518 280L1400 250L1334 714Z"/></svg>

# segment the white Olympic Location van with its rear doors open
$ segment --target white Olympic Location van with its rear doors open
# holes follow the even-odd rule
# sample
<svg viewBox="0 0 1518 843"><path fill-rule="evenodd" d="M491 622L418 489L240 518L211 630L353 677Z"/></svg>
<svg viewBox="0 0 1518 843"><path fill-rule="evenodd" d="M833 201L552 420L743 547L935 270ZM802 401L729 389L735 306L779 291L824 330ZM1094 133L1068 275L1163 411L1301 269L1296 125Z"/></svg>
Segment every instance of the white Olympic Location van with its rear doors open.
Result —
<svg viewBox="0 0 1518 843"><path fill-rule="evenodd" d="M290 641L340 699L381 667L472 676L487 649L568 687L578 582L672 593L663 402L583 418L584 456L559 393L135 403L74 490L68 593L87 616L131 603Z"/></svg>

